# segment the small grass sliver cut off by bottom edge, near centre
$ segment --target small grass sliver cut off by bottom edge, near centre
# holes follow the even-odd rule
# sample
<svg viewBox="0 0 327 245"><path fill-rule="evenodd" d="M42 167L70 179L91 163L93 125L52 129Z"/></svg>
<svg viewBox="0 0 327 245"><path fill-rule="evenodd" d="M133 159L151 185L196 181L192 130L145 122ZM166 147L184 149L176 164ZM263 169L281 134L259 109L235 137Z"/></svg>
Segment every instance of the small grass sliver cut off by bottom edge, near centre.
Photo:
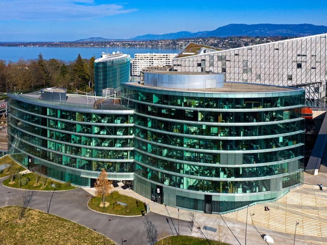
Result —
<svg viewBox="0 0 327 245"><path fill-rule="evenodd" d="M209 242L203 238L193 237L193 236L168 236L165 237L156 243L155 245L203 245L203 244L211 244L211 245L228 245L228 243L209 240Z"/></svg>

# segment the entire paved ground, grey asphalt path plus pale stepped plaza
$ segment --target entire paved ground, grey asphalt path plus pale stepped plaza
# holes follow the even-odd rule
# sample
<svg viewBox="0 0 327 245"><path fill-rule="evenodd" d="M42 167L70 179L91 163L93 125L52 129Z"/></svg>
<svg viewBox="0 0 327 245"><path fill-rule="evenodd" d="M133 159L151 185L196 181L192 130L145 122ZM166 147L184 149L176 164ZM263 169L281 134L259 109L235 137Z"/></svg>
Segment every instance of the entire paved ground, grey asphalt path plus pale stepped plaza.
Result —
<svg viewBox="0 0 327 245"><path fill-rule="evenodd" d="M323 191L319 190L320 183L324 186ZM124 237L127 240L124 245L148 244L144 227L146 218L156 226L159 237L176 235L179 230L179 234L220 239L232 245L267 245L269 243L262 238L265 234L270 235L275 244L294 244L294 241L297 245L327 244L327 168L324 166L318 176L305 173L305 184L292 189L276 202L257 204L223 215L178 211L153 203L132 190L115 189L149 204L150 213L146 217L119 217L91 211L87 202L91 196L89 193L94 193L93 188L54 193L36 191L32 208L96 230L116 244L120 244ZM0 206L14 205L21 191L0 185ZM264 211L267 205L269 212ZM203 229L204 226L207 229Z"/></svg>

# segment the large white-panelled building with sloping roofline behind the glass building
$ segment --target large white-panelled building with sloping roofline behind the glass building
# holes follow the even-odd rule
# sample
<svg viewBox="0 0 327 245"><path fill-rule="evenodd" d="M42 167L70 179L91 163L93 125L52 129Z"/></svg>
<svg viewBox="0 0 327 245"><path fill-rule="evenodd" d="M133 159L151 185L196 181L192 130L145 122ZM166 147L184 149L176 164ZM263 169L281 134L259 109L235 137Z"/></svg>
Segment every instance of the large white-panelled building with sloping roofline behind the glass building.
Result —
<svg viewBox="0 0 327 245"><path fill-rule="evenodd" d="M226 82L295 86L308 106L324 107L326 34L213 51L190 43L173 59L173 71L214 72Z"/></svg>

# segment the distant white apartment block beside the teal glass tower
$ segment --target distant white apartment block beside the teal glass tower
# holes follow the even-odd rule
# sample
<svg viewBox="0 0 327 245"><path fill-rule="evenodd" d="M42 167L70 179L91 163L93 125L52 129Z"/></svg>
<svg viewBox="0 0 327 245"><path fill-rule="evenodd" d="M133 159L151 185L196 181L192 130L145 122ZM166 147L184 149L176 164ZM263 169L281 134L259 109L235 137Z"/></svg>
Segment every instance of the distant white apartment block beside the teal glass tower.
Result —
<svg viewBox="0 0 327 245"><path fill-rule="evenodd" d="M140 76L141 71L147 67L171 66L177 54L135 54L131 62L131 75Z"/></svg>

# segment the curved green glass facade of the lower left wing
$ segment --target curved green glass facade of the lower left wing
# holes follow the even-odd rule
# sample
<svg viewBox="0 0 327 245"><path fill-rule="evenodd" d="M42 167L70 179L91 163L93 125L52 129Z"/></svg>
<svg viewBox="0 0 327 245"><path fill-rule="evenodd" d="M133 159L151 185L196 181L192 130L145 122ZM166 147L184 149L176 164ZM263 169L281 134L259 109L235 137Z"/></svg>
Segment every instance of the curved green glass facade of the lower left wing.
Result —
<svg viewBox="0 0 327 245"><path fill-rule="evenodd" d="M80 186L91 186L102 168L113 180L132 179L133 111L77 111L69 105L27 102L18 94L9 104L9 151L20 164L44 168L44 174Z"/></svg>

